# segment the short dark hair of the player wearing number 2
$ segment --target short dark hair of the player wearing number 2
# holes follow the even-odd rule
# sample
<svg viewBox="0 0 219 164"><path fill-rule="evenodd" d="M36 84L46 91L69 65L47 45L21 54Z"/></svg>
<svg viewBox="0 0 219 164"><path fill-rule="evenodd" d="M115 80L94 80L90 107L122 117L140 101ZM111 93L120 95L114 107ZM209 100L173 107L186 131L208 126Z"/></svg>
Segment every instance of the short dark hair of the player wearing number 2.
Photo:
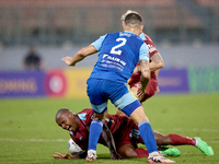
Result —
<svg viewBox="0 0 219 164"><path fill-rule="evenodd" d="M137 26L137 25L142 25L142 19L139 14L136 13L129 13L125 17L125 24L130 25L130 26Z"/></svg>

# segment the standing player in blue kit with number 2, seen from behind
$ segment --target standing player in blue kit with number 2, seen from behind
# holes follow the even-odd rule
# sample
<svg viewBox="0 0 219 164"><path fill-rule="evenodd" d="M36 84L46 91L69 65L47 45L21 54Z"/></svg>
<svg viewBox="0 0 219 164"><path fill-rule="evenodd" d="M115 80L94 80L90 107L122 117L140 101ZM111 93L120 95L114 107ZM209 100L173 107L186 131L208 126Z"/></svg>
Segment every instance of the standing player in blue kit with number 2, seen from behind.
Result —
<svg viewBox="0 0 219 164"><path fill-rule="evenodd" d="M159 154L149 119L127 84L138 61L141 71L140 93L145 93L150 80L148 47L139 37L142 28L141 16L130 13L125 19L124 32L101 36L90 46L79 50L72 58L62 58L68 66L76 66L87 56L100 51L97 62L87 81L87 93L92 109L95 112L95 119L90 126L87 161L96 160L96 144L107 116L110 99L116 108L138 125L140 136L149 152L149 163L174 163Z"/></svg>

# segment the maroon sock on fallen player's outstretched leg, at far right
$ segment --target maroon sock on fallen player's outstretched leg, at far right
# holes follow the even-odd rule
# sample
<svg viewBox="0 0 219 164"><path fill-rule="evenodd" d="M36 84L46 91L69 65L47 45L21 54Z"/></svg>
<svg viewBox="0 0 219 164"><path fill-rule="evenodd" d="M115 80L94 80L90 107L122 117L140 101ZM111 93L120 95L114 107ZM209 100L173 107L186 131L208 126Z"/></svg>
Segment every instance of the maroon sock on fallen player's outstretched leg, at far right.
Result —
<svg viewBox="0 0 219 164"><path fill-rule="evenodd" d="M184 136L180 136L176 133L170 133L169 137L171 138L171 144L172 145L182 145L182 144L196 144L196 140L194 138L188 138Z"/></svg>

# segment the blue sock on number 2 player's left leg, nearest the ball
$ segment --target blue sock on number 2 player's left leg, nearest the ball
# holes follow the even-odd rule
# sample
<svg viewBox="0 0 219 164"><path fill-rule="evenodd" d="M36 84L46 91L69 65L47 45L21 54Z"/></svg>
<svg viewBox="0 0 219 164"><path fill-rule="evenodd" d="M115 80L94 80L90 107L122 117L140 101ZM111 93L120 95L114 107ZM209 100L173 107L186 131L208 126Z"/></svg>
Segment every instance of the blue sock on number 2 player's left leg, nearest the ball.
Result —
<svg viewBox="0 0 219 164"><path fill-rule="evenodd" d="M99 142L99 138L101 136L103 129L103 121L100 119L94 119L90 126L90 133L89 133L89 149L88 150L95 150L96 144Z"/></svg>

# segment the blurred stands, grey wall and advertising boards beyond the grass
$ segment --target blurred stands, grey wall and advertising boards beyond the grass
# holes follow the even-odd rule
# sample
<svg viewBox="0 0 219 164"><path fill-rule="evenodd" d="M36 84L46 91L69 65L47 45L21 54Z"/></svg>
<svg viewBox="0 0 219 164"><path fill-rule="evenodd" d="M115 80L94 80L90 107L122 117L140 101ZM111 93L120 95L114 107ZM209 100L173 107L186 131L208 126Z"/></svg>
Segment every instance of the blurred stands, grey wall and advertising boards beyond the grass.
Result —
<svg viewBox="0 0 219 164"><path fill-rule="evenodd" d="M123 31L129 9L142 15L164 59L161 93L219 92L219 0L0 0L0 98L83 97L97 55L73 71L61 57ZM30 46L44 60L42 71L22 66Z"/></svg>

